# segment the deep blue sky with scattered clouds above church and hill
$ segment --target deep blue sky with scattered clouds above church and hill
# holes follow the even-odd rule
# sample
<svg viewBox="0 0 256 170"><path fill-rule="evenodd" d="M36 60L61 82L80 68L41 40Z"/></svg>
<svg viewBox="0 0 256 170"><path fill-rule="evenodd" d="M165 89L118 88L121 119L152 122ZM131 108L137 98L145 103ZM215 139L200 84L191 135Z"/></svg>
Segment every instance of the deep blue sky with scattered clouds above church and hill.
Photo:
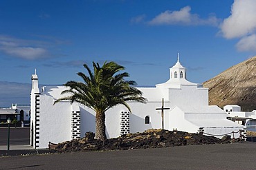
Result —
<svg viewBox="0 0 256 170"><path fill-rule="evenodd" d="M92 61L116 61L138 85L169 79L180 61L203 83L256 55L254 0L0 1L0 81L80 81ZM2 90L2 89L1 89Z"/></svg>

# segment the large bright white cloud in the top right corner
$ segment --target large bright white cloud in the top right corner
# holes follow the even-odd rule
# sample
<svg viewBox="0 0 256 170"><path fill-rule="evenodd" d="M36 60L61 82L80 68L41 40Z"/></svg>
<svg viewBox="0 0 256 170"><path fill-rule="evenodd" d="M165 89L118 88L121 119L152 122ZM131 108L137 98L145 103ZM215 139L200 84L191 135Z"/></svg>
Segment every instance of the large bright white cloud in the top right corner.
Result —
<svg viewBox="0 0 256 170"><path fill-rule="evenodd" d="M256 30L256 1L235 0L231 15L220 26L226 39L239 38Z"/></svg>

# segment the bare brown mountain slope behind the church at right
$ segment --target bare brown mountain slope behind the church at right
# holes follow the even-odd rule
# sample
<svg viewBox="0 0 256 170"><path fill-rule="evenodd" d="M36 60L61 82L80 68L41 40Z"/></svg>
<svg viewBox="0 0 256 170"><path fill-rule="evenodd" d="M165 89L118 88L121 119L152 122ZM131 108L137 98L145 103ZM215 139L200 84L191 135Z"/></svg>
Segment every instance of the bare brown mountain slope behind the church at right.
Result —
<svg viewBox="0 0 256 170"><path fill-rule="evenodd" d="M209 88L209 105L240 105L243 111L256 109L256 56L230 67L203 83Z"/></svg>

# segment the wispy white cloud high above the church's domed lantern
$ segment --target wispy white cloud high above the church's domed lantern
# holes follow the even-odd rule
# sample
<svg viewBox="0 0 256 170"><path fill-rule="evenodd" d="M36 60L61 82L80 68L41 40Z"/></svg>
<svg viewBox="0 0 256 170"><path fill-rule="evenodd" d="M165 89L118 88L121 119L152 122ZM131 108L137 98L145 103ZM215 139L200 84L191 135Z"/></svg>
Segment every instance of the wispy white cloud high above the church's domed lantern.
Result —
<svg viewBox="0 0 256 170"><path fill-rule="evenodd" d="M149 21L149 25L213 25L217 26L219 19L211 14L208 19L201 19L198 14L191 14L190 6L178 11L166 10Z"/></svg>

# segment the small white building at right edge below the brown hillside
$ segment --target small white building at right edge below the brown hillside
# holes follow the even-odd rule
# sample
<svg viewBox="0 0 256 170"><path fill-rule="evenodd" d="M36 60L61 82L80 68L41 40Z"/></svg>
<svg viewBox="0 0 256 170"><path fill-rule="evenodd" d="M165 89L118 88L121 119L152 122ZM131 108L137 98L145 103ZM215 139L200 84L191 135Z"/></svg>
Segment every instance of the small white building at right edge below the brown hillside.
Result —
<svg viewBox="0 0 256 170"><path fill-rule="evenodd" d="M256 111L241 111L239 105L226 105L223 107L228 119L246 126L247 130L256 131Z"/></svg>

